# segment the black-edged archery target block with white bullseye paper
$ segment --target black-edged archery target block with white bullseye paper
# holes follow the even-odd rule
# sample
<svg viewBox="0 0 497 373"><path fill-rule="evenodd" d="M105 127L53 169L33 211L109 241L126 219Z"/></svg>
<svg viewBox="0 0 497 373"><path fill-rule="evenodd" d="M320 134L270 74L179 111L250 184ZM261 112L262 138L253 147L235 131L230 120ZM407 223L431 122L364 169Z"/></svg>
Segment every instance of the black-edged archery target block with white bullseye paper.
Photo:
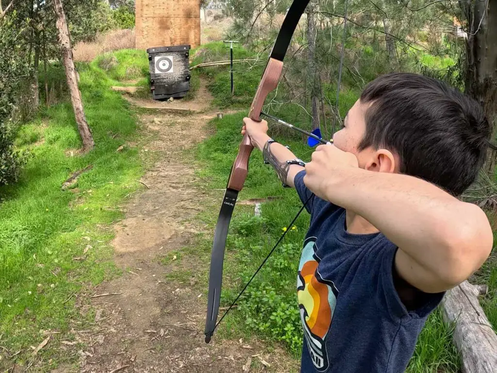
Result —
<svg viewBox="0 0 497 373"><path fill-rule="evenodd" d="M189 45L147 49L150 90L156 100L183 97L190 90Z"/></svg>

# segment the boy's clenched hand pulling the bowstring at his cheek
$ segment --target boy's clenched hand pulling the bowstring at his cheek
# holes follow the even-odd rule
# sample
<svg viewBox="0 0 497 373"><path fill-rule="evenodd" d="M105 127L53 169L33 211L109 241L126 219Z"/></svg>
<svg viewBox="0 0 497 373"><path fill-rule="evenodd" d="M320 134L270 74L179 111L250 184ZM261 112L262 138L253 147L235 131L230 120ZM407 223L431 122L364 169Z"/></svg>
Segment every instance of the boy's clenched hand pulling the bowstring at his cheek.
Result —
<svg viewBox="0 0 497 373"><path fill-rule="evenodd" d="M346 169L358 167L354 154L331 144L320 145L313 153L312 161L306 164L304 184L320 198L327 199L333 178Z"/></svg>

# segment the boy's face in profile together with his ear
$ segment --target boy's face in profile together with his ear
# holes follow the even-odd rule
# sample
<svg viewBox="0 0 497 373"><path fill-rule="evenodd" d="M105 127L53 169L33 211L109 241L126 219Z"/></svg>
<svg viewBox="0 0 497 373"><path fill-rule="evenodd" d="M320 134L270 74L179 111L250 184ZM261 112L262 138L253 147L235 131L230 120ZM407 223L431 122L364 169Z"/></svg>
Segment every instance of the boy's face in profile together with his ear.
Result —
<svg viewBox="0 0 497 373"><path fill-rule="evenodd" d="M357 157L359 167L370 171L398 172L396 166L400 165L400 159L386 149L373 149L368 147L358 150L366 133L366 110L370 103L363 104L360 99L348 110L343 120L343 128L335 132L333 145L344 152L349 152Z"/></svg>

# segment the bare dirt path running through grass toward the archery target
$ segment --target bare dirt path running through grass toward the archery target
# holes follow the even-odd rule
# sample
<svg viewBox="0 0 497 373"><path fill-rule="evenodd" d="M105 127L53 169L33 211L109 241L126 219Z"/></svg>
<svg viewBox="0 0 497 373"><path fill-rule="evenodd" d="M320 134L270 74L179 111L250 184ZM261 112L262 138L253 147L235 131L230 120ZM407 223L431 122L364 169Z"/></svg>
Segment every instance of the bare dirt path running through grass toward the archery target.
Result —
<svg viewBox="0 0 497 373"><path fill-rule="evenodd" d="M197 274L205 274L209 263L181 253L199 229L190 219L204 205L219 204L222 193L195 189L191 164L182 152L208 136L204 126L216 115L208 110L211 97L205 85L197 97L195 107L203 112L141 117L156 134L151 150L162 155L142 179L150 189L134 194L125 206L126 218L114 227L115 261L124 275L95 290L117 294L93 299L94 329L77 334L89 346L80 352L79 372L295 371L293 359L278 348L269 353L260 341L215 336L204 343L207 282ZM174 262L181 263L183 276L172 273Z"/></svg>

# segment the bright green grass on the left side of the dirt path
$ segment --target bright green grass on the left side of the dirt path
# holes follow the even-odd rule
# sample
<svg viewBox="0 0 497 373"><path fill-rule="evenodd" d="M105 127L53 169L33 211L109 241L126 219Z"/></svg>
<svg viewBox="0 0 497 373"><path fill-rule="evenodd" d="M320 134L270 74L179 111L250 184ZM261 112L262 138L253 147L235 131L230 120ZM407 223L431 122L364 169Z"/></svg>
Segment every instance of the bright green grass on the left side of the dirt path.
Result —
<svg viewBox="0 0 497 373"><path fill-rule="evenodd" d="M72 295L119 273L109 245L113 233L105 226L122 218L123 198L141 187L134 181L144 172L139 149L116 152L127 141L140 141L135 115L92 66L80 65L79 72L95 149L70 155L81 147L70 103L43 108L18 132L16 145L31 153L19 182L0 188L0 335L11 353L21 350L17 363L28 359L26 346L45 338L41 331L58 331L63 334L55 338L62 338L71 321L82 318ZM61 190L88 165L93 168L76 189ZM39 356L58 356L52 365L68 359L50 346Z"/></svg>

